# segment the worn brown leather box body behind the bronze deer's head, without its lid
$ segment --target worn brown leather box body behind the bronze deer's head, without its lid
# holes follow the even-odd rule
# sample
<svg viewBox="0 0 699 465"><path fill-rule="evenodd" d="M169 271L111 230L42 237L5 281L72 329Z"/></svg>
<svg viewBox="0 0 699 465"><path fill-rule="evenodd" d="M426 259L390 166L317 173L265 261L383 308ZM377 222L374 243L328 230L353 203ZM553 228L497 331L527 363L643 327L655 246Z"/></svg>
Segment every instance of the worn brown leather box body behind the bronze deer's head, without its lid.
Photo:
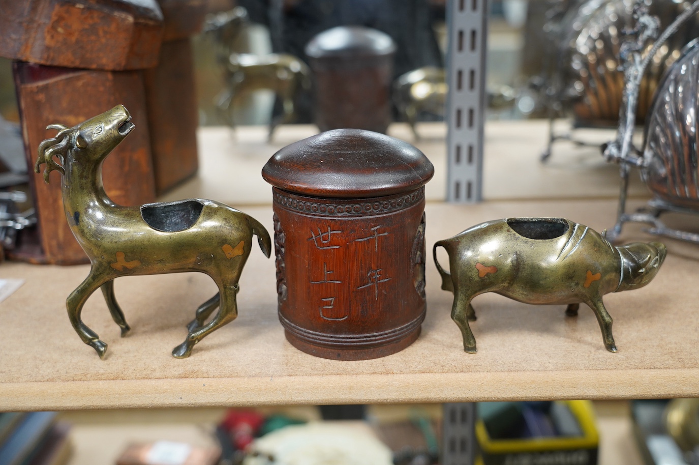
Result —
<svg viewBox="0 0 699 465"><path fill-rule="evenodd" d="M34 167L39 143L56 134L45 129L49 124L71 127L122 103L136 129L106 159L104 187L110 198L122 205L154 201L142 71L88 71L23 62L15 62L14 68L28 166ZM10 258L54 264L87 262L66 221L59 174L52 174L48 185L39 175L29 179L40 247L23 234Z"/></svg>

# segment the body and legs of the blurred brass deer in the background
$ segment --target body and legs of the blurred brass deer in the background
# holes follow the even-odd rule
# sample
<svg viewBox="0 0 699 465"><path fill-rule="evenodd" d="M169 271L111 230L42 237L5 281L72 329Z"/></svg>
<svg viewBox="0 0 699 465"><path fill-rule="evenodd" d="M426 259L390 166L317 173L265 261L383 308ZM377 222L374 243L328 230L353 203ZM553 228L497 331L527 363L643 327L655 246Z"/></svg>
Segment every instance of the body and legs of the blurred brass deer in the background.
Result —
<svg viewBox="0 0 699 465"><path fill-rule="evenodd" d="M268 141L272 140L274 131L280 124L294 121L294 99L301 92L310 90L310 69L294 55L231 53L223 66L228 87L217 97L216 106L226 115L231 127L236 127L233 110L240 99L252 92L271 90L282 101L284 113L272 117Z"/></svg>

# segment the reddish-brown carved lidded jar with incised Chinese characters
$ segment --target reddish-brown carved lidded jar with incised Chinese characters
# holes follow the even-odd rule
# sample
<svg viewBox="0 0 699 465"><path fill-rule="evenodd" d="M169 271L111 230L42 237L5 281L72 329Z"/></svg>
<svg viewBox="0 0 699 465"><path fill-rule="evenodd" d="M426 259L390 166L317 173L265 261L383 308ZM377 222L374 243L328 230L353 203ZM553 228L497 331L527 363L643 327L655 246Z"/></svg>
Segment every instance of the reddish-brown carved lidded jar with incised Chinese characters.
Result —
<svg viewBox="0 0 699 465"><path fill-rule="evenodd" d="M293 143L267 162L279 318L292 345L361 360L415 341L426 310L424 184L433 172L412 145L356 129Z"/></svg>

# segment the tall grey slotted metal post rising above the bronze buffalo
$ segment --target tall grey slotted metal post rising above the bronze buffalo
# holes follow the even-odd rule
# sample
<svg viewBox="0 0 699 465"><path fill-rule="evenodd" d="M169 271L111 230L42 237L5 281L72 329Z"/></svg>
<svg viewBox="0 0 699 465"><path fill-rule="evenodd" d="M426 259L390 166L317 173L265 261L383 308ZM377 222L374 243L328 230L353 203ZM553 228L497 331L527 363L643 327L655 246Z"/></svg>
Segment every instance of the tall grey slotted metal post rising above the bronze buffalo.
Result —
<svg viewBox="0 0 699 465"><path fill-rule="evenodd" d="M487 0L449 0L447 201L482 199Z"/></svg>

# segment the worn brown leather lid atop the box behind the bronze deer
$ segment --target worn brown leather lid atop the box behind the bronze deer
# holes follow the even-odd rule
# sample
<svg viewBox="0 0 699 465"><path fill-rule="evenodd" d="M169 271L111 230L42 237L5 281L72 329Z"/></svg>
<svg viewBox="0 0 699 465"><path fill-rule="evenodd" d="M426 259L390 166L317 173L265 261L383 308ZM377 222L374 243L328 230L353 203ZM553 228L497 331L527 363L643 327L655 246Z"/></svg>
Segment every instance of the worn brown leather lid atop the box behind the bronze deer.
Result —
<svg viewBox="0 0 699 465"><path fill-rule="evenodd" d="M163 14L155 0L0 0L0 56L123 71L155 66Z"/></svg>

